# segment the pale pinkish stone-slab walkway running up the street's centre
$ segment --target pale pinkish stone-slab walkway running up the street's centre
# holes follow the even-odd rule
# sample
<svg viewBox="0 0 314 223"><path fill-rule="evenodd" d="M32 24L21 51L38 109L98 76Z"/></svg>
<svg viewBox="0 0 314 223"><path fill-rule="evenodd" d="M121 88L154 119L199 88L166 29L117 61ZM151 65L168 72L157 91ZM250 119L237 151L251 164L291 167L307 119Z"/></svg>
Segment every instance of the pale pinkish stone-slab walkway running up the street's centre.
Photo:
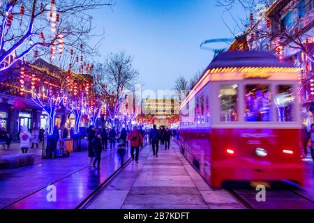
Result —
<svg viewBox="0 0 314 223"><path fill-rule="evenodd" d="M244 208L225 190L213 190L181 155L172 141L170 150L154 157L151 146L140 153L91 203L102 208Z"/></svg>

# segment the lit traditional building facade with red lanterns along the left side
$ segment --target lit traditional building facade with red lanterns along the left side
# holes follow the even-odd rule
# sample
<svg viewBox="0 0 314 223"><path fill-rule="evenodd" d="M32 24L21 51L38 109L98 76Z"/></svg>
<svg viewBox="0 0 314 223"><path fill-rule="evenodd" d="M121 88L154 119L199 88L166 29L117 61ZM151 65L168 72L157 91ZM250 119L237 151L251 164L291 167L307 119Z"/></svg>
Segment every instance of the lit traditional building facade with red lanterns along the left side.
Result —
<svg viewBox="0 0 314 223"><path fill-rule="evenodd" d="M19 140L22 126L29 130L33 128L47 129L48 116L36 102L31 99L32 88L57 89L60 84L61 70L57 66L38 59L34 63L19 63L0 76L0 126L9 132L13 140ZM77 82L85 77L75 75ZM71 128L74 126L74 117L65 107L57 110L55 125L57 127ZM82 122L82 125L88 123Z"/></svg>

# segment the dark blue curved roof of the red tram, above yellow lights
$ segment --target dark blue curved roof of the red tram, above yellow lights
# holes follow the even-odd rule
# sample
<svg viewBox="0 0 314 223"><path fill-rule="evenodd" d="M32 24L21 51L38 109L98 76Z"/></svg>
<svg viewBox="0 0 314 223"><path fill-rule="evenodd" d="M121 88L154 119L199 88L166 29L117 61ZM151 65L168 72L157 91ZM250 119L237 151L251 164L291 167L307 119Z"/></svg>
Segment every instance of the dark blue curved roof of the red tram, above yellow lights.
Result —
<svg viewBox="0 0 314 223"><path fill-rule="evenodd" d="M278 61L274 54L261 51L230 51L218 54L206 70L212 68L276 67L293 68L292 64Z"/></svg>

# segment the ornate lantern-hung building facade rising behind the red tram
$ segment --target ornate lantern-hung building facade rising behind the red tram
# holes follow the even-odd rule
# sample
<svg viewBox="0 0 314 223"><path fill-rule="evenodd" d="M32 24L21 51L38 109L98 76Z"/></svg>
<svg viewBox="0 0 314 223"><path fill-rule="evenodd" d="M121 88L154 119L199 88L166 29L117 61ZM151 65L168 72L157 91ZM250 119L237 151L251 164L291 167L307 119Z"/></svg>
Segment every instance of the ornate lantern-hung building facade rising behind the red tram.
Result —
<svg viewBox="0 0 314 223"><path fill-rule="evenodd" d="M300 68L299 99L309 127L314 121L314 1L277 0L252 17L251 27L242 34L246 40L236 38L228 50L269 51Z"/></svg>

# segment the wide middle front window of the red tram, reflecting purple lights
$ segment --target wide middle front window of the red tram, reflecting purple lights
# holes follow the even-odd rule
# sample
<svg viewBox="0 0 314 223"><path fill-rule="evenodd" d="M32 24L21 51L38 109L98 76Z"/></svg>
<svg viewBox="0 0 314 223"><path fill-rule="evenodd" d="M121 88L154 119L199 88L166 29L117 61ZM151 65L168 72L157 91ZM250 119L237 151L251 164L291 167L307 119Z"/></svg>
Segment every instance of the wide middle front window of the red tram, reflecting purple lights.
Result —
<svg viewBox="0 0 314 223"><path fill-rule="evenodd" d="M268 85L246 85L245 100L245 121L271 121L271 93Z"/></svg>

